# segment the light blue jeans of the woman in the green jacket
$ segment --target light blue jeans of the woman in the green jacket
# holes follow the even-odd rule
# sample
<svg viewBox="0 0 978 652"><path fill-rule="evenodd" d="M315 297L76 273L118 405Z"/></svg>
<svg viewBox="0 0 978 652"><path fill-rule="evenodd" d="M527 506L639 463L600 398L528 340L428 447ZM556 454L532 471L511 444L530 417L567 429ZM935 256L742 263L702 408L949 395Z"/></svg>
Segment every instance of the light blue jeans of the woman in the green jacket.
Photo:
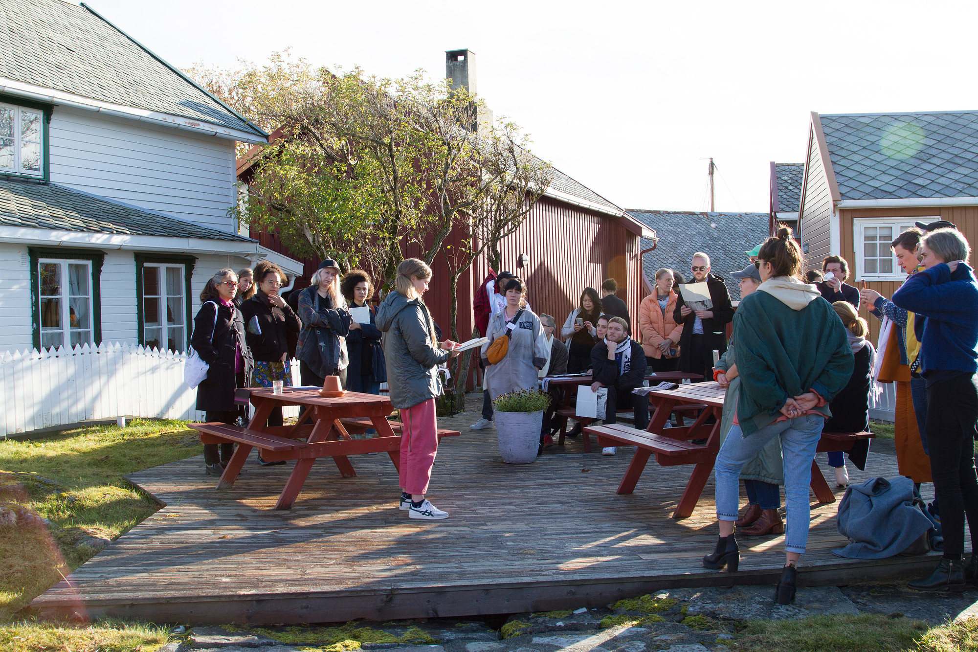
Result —
<svg viewBox="0 0 978 652"><path fill-rule="evenodd" d="M731 427L720 447L716 461L717 518L736 521L740 497L740 469L773 438L781 440L784 463L784 503L788 519L784 549L805 552L811 506L808 502L812 484L812 460L822 437L825 420L806 414L780 423L772 423L750 437L744 437L740 426Z"/></svg>

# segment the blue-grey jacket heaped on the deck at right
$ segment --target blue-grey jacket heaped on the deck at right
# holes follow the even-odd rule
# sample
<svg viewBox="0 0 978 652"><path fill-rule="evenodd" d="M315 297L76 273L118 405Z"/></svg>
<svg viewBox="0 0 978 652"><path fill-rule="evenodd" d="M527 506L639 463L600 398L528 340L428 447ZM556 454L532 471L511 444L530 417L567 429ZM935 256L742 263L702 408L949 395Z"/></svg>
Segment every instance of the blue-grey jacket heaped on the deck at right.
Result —
<svg viewBox="0 0 978 652"><path fill-rule="evenodd" d="M835 523L850 543L832 553L850 559L898 555L931 527L913 506L913 481L903 477L871 478L846 489Z"/></svg>

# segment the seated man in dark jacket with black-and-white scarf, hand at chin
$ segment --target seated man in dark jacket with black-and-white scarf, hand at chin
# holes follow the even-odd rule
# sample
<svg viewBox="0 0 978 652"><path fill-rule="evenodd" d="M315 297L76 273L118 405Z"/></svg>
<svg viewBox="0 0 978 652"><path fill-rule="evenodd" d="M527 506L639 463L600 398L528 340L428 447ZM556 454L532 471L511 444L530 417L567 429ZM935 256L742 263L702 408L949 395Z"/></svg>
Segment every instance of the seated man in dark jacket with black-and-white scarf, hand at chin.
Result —
<svg viewBox="0 0 978 652"><path fill-rule="evenodd" d="M632 394L645 382L645 351L642 345L629 337L628 323L621 317L608 319L607 336L591 350L591 368L594 371L592 392L607 388L604 405L604 425L617 423L618 409L635 411L635 427L648 427L648 398ZM613 455L614 446L601 450L602 455Z"/></svg>

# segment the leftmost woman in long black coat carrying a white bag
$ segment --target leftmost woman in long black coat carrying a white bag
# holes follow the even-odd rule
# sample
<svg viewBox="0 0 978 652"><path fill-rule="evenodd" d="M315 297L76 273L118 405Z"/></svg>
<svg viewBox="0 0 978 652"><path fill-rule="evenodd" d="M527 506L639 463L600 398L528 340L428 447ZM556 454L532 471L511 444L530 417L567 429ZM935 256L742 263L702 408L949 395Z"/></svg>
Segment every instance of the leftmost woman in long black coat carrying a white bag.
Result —
<svg viewBox="0 0 978 652"><path fill-rule="evenodd" d="M229 425L247 423L244 406L235 402L235 390L247 387L254 363L244 341L244 318L234 304L238 276L233 269L219 269L200 293L200 310L194 317L190 344L209 365L207 377L197 387L197 409L204 420ZM208 476L224 472L234 452L233 443L203 446L203 463Z"/></svg>

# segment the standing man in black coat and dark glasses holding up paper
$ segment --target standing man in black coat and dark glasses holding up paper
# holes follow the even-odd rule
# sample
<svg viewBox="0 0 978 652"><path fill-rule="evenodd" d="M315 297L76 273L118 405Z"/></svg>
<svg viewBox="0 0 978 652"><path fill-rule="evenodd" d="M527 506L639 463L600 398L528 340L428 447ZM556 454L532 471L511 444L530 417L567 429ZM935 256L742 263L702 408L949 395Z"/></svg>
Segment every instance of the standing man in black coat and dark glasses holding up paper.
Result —
<svg viewBox="0 0 978 652"><path fill-rule="evenodd" d="M679 368L713 378L713 351L723 355L727 350L727 324L733 321L733 305L723 279L710 273L710 256L693 254L691 269L694 283L706 283L712 305L694 309L684 301L682 287L676 285L679 299L673 317L677 324L683 324Z"/></svg>

